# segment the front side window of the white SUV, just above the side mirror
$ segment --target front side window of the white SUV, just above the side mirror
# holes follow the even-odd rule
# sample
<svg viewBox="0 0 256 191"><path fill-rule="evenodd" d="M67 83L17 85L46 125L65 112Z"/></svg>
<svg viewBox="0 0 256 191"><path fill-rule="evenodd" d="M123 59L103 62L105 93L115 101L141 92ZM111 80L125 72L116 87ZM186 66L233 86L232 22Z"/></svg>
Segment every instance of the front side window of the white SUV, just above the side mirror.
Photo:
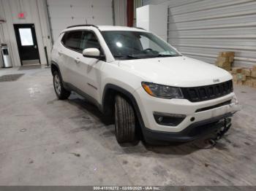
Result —
<svg viewBox="0 0 256 191"><path fill-rule="evenodd" d="M82 39L80 41L80 50L86 48L97 48L102 54L102 50L97 39L97 36L91 31L83 31Z"/></svg>

